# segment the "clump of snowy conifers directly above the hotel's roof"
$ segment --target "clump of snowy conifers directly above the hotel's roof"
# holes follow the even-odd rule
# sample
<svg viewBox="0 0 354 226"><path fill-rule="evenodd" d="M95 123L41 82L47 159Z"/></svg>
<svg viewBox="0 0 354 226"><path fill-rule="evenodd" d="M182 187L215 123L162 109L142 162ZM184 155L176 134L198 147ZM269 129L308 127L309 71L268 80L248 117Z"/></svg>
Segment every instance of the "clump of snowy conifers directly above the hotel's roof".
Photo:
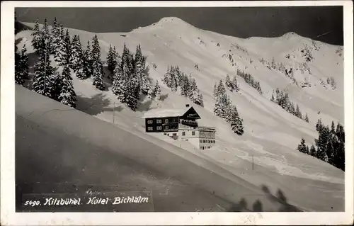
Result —
<svg viewBox="0 0 354 226"><path fill-rule="evenodd" d="M161 79L172 92L180 88L181 96L189 98L193 103L204 106L203 97L198 89L198 85L191 74L181 72L178 65L168 66L164 77Z"/></svg>

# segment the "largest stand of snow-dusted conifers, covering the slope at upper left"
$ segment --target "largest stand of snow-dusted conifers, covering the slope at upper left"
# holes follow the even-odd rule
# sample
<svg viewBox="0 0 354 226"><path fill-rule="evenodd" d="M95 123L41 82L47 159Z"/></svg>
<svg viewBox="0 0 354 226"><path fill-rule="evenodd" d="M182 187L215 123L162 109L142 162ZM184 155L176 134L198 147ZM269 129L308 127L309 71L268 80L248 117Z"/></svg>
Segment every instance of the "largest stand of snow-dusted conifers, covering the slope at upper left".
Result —
<svg viewBox="0 0 354 226"><path fill-rule="evenodd" d="M79 35L71 38L69 30L64 30L62 24L54 19L52 29L47 19L40 29L38 21L33 28L32 45L38 55L38 62L34 66L32 90L39 94L53 98L68 106L76 107L76 94L72 84L72 72L78 79L93 79L96 89L104 90L103 62L101 61L101 47L97 35L92 38L92 45L88 41L86 50L81 46ZM15 81L24 84L28 79L28 55L25 45L21 53L15 45ZM52 60L62 67L58 72L52 66ZM161 88L158 81L154 88L149 81L149 67L146 67L146 57L142 55L140 45L133 55L126 45L123 47L122 57L110 45L107 56L108 78L113 81L113 94L122 103L126 103L133 111L137 108L139 94L149 98L160 99Z"/></svg>

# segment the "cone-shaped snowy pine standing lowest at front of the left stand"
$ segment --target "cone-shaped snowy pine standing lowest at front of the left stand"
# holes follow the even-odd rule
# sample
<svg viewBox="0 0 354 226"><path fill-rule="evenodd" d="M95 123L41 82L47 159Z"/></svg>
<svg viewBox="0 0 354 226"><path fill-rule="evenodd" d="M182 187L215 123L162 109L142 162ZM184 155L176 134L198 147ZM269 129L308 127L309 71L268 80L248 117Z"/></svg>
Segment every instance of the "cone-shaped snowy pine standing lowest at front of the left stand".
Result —
<svg viewBox="0 0 354 226"><path fill-rule="evenodd" d="M58 100L60 103L64 103L72 108L76 107L76 94L74 91L74 86L72 84L72 76L70 75L69 65L64 65L62 74L60 77L59 85L59 96Z"/></svg>

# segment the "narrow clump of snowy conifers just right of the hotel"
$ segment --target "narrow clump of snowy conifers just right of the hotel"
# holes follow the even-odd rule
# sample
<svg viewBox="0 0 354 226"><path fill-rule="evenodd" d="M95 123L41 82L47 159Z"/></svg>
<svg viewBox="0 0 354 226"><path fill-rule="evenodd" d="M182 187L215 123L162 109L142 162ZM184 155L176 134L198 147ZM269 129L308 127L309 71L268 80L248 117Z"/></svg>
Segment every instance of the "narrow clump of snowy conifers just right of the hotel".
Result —
<svg viewBox="0 0 354 226"><path fill-rule="evenodd" d="M232 91L237 89L237 81L233 80L234 83L227 83L228 88L232 88ZM236 88L235 88L236 87ZM213 97L215 98L214 113L215 115L223 118L231 125L232 131L237 135L244 134L244 125L243 119L240 117L239 112L237 111L236 106L230 101L229 95L227 95L226 88L222 80L219 81L219 84L214 85Z"/></svg>

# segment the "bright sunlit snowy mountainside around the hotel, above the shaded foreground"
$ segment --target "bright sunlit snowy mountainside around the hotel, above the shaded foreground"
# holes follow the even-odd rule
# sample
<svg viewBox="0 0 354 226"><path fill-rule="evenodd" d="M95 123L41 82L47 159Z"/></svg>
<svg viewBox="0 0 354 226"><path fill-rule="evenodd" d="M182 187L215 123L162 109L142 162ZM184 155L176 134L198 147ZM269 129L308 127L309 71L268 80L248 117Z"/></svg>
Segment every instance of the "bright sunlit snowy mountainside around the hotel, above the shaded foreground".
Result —
<svg viewBox="0 0 354 226"><path fill-rule="evenodd" d="M31 23L25 25L33 27ZM69 32L70 35L79 34L83 46L94 35L74 29L69 29ZM22 31L16 38L23 38L18 46L26 43L30 52L30 31ZM307 145L313 144L317 137L314 125L319 118L327 125L330 125L331 120L343 124L341 47L313 42L294 33L287 33L279 38L234 38L200 30L178 18L162 18L151 26L138 28L130 33L100 33L98 38L103 61L110 44L120 54L124 43L132 52L140 44L143 55L147 55L147 64L154 63L157 66L156 70L150 67L152 79L161 79L168 65L179 65L183 72L191 73L195 78L204 97L205 107L194 104L191 106L200 114L201 125L217 128L217 145L201 152L182 144L181 147L185 147L182 157L192 152L255 186L267 184L273 193L276 188L280 188L294 205L308 210L343 210L343 171L296 150L302 137ZM302 74L296 70L299 63L306 62L301 52L305 46L313 56L312 62L307 62L312 74ZM229 125L212 113L215 103L212 98L214 83L225 79L227 74L236 75L236 67L225 57L229 54L237 68L249 72L260 81L264 93L261 96L241 77L237 77L241 91L239 94L230 94L230 98L244 119L245 133L241 137L234 135ZM290 59L286 55L291 55ZM312 86L295 86L289 77L277 70L268 69L259 62L261 58L271 62L273 57L275 62L282 62L287 69L293 68L296 79L309 79ZM198 64L200 71L194 68L195 64ZM321 86L320 79L325 81L327 77L336 79L337 89ZM178 93L171 93L162 85L161 103L142 100L139 111L132 112L119 103L109 89L96 90L90 79L79 81L74 78L74 88L79 96L79 110L110 123L114 120L120 128L129 130L138 137L145 137L147 140L159 138L155 140L158 145L164 144L159 140L166 137L144 132L144 120L141 118L143 113L152 108L181 108L185 103L190 103L188 99ZM290 100L299 104L302 113L308 113L309 123L269 101L272 90L276 88L287 90ZM175 145L181 144L177 142Z"/></svg>

